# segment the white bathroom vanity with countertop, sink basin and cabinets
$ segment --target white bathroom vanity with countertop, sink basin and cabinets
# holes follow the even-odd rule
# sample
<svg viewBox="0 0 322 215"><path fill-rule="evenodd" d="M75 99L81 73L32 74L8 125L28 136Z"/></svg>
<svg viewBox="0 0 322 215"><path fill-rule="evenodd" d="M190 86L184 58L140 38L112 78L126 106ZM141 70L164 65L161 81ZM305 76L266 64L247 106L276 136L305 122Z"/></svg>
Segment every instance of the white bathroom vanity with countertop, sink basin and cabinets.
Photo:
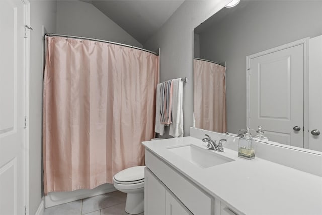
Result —
<svg viewBox="0 0 322 215"><path fill-rule="evenodd" d="M322 214L318 175L245 160L226 145L224 152L209 150L194 137L143 145L146 215Z"/></svg>

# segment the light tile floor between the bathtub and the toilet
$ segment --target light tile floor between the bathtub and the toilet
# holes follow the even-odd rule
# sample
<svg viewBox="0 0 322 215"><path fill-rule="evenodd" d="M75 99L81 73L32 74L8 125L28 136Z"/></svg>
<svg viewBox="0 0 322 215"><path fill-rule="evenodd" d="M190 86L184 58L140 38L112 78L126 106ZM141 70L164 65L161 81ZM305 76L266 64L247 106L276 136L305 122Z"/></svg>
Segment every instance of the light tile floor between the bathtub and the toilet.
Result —
<svg viewBox="0 0 322 215"><path fill-rule="evenodd" d="M126 215L125 201L126 193L115 191L47 208L44 215Z"/></svg>

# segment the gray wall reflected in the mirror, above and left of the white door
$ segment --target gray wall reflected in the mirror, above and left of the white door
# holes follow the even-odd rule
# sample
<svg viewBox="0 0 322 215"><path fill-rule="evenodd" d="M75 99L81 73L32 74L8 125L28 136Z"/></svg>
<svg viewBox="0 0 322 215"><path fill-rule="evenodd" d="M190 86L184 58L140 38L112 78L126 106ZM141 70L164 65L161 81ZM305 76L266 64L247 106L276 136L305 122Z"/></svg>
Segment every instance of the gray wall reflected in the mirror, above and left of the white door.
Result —
<svg viewBox="0 0 322 215"><path fill-rule="evenodd" d="M321 12L322 1L250 1L200 33L200 57L227 62L229 132L246 126L246 56L321 35Z"/></svg>

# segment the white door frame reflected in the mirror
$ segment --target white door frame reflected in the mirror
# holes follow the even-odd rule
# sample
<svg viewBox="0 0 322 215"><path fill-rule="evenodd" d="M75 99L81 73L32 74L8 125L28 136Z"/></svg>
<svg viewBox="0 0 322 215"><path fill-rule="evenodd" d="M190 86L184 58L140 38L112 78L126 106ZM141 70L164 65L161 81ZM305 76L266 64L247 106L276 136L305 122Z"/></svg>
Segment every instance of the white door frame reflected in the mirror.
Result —
<svg viewBox="0 0 322 215"><path fill-rule="evenodd" d="M308 133L308 48L309 48L309 37L305 37L300 40L296 40L294 42L286 43L281 46L277 46L271 49L267 49L265 51L261 51L252 55L246 56L246 126L249 127L249 119L250 119L250 89L249 89L249 69L250 69L250 62L253 58L260 57L262 55L266 55L272 52L280 51L283 49L291 48L297 45L303 44L303 53L304 53L304 68L303 68L303 147L307 149L309 146L309 133Z"/></svg>

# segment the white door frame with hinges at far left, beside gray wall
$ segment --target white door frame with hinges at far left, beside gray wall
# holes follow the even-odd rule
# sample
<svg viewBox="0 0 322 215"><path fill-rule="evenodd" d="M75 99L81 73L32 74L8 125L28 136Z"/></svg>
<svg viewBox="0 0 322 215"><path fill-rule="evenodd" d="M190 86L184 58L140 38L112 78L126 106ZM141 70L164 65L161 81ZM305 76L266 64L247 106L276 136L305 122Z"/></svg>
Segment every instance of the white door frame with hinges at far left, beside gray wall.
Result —
<svg viewBox="0 0 322 215"><path fill-rule="evenodd" d="M29 146L29 99L30 99L30 29L26 26L30 27L30 1L29 0L21 0L24 4L24 22L25 22L25 40L24 40L24 90L25 90L25 141L24 141L24 169L25 169L25 215L30 214L30 201L29 201L29 159L30 159L30 146Z"/></svg>

